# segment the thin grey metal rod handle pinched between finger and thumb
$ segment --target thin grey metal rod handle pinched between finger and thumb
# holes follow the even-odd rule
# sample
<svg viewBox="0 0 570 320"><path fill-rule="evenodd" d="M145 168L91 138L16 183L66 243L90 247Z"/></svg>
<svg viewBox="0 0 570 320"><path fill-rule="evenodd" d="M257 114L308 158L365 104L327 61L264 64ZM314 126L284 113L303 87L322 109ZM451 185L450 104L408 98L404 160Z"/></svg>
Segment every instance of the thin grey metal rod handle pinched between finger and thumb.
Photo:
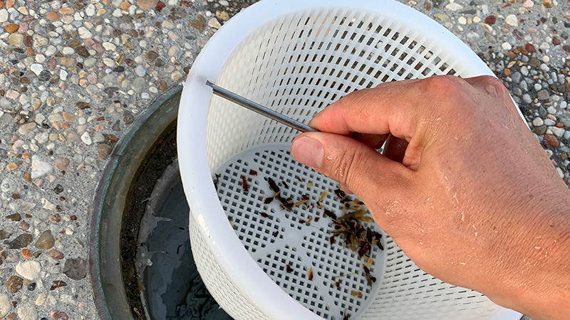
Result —
<svg viewBox="0 0 570 320"><path fill-rule="evenodd" d="M248 100L242 97L241 95L237 95L234 92L224 89L223 87L214 85L214 83L212 82L206 81L206 85L212 87L212 89L214 90L214 95L219 95L220 97L223 97L226 100L234 102L237 105L241 105L242 107L246 107L249 110L264 115L265 117L274 119L276 122L285 124L286 126L289 126L293 129L297 129L300 132L318 132L317 129L309 127L308 125L298 122L289 117L286 117L283 114L280 114L279 112L275 112L269 108L259 105L259 103L253 102L252 100Z"/></svg>

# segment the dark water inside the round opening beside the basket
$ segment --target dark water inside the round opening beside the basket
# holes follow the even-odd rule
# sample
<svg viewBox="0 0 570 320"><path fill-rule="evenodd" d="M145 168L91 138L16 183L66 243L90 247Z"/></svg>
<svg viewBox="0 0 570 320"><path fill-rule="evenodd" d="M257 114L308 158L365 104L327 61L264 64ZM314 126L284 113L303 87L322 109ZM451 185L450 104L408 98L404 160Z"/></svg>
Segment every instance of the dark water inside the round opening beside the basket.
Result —
<svg viewBox="0 0 570 320"><path fill-rule="evenodd" d="M190 208L179 183L156 213L160 221L148 243L152 266L145 270L147 306L152 319L231 320L209 294L190 250Z"/></svg>

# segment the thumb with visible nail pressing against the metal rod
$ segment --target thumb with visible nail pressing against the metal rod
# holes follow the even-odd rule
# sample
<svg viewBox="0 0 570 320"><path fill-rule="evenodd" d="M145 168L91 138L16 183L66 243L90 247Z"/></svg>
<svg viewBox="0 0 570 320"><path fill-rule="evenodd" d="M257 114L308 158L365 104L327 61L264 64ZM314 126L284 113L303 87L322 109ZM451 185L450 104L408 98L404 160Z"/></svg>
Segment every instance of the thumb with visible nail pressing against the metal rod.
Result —
<svg viewBox="0 0 570 320"><path fill-rule="evenodd" d="M291 144L297 161L347 186L365 203L393 194L408 183L409 171L370 146L339 134L307 132Z"/></svg>

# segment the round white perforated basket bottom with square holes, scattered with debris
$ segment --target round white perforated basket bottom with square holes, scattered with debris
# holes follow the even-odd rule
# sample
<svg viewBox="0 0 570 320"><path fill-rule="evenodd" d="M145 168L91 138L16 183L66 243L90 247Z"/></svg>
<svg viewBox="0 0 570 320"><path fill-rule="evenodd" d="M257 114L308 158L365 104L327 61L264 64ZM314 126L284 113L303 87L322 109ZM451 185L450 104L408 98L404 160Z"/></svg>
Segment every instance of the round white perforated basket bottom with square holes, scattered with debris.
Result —
<svg viewBox="0 0 570 320"><path fill-rule="evenodd" d="M320 204L341 215L342 204L333 192L338 189L335 181L292 159L289 145L244 151L217 173L219 198L239 239L259 267L291 297L324 319L343 319L345 312L354 319L373 299L378 281L368 285L363 271L366 262L343 247L342 238L331 245L331 218L316 207L323 191L328 191ZM264 200L274 195L268 177L278 184L283 198L296 202L306 194L309 205L295 206L291 212L280 208L276 199L265 204ZM383 234L375 223L366 225ZM371 257L371 275L381 279L384 253L374 246ZM356 292L362 297L354 295Z"/></svg>

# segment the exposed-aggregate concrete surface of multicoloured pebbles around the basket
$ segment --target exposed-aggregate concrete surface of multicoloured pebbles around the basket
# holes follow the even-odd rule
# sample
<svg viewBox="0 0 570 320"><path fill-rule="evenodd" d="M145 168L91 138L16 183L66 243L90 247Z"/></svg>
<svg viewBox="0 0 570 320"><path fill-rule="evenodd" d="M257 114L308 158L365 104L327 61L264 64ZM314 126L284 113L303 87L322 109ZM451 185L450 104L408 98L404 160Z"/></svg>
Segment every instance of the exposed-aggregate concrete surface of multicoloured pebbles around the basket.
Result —
<svg viewBox="0 0 570 320"><path fill-rule="evenodd" d="M88 233L105 161L252 2L0 0L0 319L97 317ZM402 2L480 55L569 183L569 4Z"/></svg>

